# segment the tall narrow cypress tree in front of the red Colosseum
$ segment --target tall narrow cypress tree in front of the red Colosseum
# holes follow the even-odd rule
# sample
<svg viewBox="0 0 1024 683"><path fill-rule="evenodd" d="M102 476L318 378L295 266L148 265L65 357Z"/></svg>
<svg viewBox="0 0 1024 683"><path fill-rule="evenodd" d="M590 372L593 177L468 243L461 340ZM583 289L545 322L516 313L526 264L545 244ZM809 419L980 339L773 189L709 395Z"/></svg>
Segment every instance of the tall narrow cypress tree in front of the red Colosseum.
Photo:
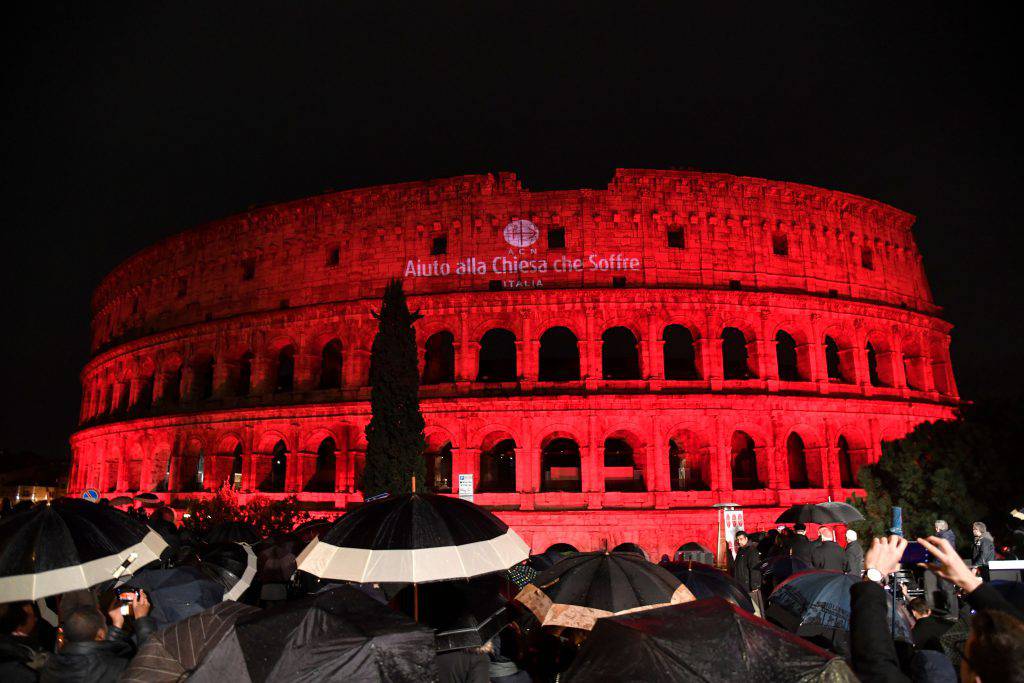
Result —
<svg viewBox="0 0 1024 683"><path fill-rule="evenodd" d="M367 425L367 463L360 488L367 497L406 494L412 477L425 483L423 415L420 413L420 374L413 324L401 282L384 289L378 328L370 351L370 409ZM422 485L422 484L421 484Z"/></svg>

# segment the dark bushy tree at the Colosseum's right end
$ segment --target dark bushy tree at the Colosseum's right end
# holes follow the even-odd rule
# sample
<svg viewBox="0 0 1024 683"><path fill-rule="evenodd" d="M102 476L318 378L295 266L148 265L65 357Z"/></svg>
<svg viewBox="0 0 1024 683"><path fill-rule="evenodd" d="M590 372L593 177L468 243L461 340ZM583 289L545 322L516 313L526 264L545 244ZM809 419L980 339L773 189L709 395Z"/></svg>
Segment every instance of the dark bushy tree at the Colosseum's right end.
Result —
<svg viewBox="0 0 1024 683"><path fill-rule="evenodd" d="M949 522L962 551L975 521L996 535L1005 531L1009 511L1024 502L1019 416L1019 403L969 405L955 420L925 423L884 443L879 462L858 473L865 497L850 503L865 521L854 528L881 536L892 522L892 507L900 506L911 539L934 532L936 519Z"/></svg>

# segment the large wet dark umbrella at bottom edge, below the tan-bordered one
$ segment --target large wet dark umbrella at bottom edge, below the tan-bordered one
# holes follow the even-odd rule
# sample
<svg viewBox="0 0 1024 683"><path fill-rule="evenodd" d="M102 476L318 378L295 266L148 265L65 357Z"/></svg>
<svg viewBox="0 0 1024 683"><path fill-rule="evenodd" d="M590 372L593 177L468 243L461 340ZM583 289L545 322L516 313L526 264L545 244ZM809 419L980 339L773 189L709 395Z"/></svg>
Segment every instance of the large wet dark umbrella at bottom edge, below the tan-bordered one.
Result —
<svg viewBox="0 0 1024 683"><path fill-rule="evenodd" d="M846 663L722 598L598 620L565 681L828 681Z"/></svg>

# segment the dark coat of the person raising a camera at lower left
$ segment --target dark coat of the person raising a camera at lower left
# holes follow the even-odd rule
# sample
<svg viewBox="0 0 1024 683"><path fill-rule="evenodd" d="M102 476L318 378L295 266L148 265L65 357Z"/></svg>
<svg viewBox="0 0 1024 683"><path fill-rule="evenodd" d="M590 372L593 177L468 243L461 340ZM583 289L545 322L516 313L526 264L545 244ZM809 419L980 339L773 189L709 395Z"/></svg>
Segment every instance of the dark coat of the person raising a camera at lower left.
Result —
<svg viewBox="0 0 1024 683"><path fill-rule="evenodd" d="M142 643L156 630L148 616L136 620L135 635ZM111 627L106 640L68 643L50 656L43 667L42 683L116 683L135 656L135 645L128 634Z"/></svg>

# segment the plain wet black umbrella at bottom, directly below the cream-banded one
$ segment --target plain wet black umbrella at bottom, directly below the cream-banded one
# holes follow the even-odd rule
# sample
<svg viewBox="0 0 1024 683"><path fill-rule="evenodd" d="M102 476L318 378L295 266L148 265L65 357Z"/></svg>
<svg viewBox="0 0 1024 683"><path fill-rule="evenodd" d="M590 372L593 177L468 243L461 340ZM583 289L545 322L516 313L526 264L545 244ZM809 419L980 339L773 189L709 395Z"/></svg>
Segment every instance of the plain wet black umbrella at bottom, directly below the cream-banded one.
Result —
<svg viewBox="0 0 1024 683"><path fill-rule="evenodd" d="M191 683L437 679L434 632L351 586L242 616Z"/></svg>

